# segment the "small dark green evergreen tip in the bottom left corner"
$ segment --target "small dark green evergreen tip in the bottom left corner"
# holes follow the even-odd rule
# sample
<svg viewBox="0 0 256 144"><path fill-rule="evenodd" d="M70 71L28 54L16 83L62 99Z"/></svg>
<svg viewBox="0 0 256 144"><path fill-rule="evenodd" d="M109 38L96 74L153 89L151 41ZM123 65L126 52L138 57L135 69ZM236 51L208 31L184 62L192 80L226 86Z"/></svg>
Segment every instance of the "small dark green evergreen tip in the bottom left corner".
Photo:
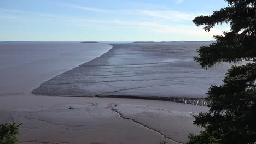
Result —
<svg viewBox="0 0 256 144"><path fill-rule="evenodd" d="M18 142L19 126L14 121L0 124L0 144L15 144Z"/></svg>

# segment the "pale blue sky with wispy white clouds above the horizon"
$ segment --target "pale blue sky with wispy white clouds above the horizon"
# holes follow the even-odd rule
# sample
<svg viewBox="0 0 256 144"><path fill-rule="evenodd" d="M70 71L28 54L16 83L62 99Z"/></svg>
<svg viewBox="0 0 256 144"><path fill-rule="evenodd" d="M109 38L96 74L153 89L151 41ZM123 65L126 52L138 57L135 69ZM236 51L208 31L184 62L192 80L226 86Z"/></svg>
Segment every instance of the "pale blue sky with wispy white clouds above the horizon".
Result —
<svg viewBox="0 0 256 144"><path fill-rule="evenodd" d="M214 40L197 27L224 0L0 0L0 41Z"/></svg>

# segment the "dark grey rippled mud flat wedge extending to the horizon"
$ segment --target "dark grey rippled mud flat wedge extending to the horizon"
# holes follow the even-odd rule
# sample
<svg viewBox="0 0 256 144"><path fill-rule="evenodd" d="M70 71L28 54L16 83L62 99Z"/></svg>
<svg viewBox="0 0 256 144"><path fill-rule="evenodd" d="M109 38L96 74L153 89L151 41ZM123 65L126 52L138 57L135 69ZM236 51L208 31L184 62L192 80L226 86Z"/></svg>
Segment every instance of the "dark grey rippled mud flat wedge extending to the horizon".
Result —
<svg viewBox="0 0 256 144"><path fill-rule="evenodd" d="M204 70L193 60L209 42L129 43L44 82L37 95L158 99L205 105L229 65Z"/></svg>

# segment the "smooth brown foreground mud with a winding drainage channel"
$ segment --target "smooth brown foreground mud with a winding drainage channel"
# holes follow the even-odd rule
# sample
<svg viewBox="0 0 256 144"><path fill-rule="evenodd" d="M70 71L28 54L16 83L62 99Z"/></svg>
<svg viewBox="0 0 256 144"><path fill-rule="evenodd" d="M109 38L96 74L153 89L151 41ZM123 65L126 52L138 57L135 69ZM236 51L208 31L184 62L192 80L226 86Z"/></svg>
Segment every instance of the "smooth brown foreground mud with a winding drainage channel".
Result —
<svg viewBox="0 0 256 144"><path fill-rule="evenodd" d="M205 106L170 101L14 95L0 97L0 123L22 123L19 143L185 143L198 134L191 113Z"/></svg>

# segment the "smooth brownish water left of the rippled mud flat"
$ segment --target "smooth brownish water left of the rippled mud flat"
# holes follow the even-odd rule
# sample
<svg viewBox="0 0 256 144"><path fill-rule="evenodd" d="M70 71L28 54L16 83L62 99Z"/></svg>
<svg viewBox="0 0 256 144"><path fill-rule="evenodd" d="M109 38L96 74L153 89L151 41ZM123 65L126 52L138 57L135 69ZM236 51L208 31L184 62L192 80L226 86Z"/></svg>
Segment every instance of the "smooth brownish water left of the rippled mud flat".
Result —
<svg viewBox="0 0 256 144"><path fill-rule="evenodd" d="M0 96L31 93L40 83L110 48L108 44L0 44Z"/></svg>

